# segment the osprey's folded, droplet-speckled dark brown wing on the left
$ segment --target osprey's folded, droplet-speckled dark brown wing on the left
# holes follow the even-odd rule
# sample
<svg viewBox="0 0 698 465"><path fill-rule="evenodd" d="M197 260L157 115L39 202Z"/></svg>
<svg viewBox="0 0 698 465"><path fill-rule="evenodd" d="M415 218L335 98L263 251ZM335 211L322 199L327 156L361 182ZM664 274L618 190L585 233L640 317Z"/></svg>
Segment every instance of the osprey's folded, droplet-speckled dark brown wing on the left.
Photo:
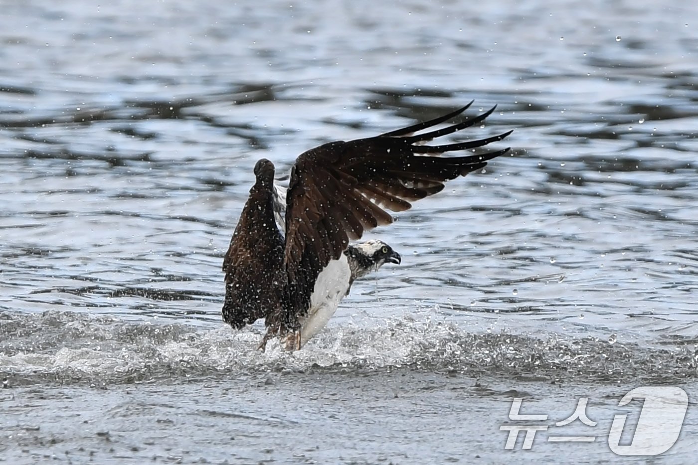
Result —
<svg viewBox="0 0 698 465"><path fill-rule="evenodd" d="M274 222L272 189L253 186L223 258L223 320L237 329L283 307L285 242Z"/></svg>

